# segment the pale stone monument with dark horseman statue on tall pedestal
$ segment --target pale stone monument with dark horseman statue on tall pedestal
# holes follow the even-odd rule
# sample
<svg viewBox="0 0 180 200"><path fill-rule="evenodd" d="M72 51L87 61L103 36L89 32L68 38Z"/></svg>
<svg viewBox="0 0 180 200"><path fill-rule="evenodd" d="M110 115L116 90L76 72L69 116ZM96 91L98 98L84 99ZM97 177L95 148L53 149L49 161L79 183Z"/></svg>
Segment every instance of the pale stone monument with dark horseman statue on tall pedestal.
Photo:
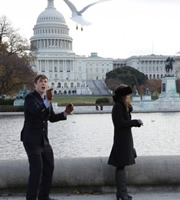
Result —
<svg viewBox="0 0 180 200"><path fill-rule="evenodd" d="M152 101L149 89L146 89L141 102L132 101L134 111L180 111L180 97L177 93L176 77L173 71L174 62L174 58L168 57L166 59L166 74L161 79L161 94L159 98L156 101Z"/></svg>

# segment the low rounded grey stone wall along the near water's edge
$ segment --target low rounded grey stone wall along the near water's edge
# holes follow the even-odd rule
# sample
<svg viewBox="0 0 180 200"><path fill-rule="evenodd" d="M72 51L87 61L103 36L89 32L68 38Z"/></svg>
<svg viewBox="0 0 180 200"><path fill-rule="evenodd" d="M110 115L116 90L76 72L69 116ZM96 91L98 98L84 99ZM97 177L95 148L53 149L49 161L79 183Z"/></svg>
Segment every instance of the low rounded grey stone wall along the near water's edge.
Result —
<svg viewBox="0 0 180 200"><path fill-rule="evenodd" d="M106 157L63 158L55 160L53 188L96 188L103 192L114 187L115 168ZM29 166L27 160L1 160L0 190L24 189ZM180 156L139 156L126 168L129 186L154 187L180 185Z"/></svg>

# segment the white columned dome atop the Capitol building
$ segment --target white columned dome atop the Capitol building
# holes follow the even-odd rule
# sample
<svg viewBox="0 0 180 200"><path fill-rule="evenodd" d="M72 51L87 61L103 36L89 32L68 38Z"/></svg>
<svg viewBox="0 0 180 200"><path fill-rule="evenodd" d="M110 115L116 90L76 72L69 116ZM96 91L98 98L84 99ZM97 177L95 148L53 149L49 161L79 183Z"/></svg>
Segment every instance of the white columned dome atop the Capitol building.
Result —
<svg viewBox="0 0 180 200"><path fill-rule="evenodd" d="M32 50L38 52L72 52L72 38L64 16L54 7L54 0L47 0L47 8L40 13L31 37Z"/></svg>

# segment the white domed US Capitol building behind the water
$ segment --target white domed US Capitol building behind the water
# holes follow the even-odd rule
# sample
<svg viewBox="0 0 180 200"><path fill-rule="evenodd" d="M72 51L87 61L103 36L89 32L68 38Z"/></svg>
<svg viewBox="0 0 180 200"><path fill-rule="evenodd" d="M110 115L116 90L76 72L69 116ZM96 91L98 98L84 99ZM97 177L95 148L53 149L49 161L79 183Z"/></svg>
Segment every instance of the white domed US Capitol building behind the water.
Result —
<svg viewBox="0 0 180 200"><path fill-rule="evenodd" d="M37 48L34 70L45 74L55 94L107 95L104 80L106 73L117 67L130 66L143 72L148 78L165 75L168 56L132 56L127 59L80 56L73 52L73 39L63 15L48 0L47 8L40 13L33 28L31 46Z"/></svg>

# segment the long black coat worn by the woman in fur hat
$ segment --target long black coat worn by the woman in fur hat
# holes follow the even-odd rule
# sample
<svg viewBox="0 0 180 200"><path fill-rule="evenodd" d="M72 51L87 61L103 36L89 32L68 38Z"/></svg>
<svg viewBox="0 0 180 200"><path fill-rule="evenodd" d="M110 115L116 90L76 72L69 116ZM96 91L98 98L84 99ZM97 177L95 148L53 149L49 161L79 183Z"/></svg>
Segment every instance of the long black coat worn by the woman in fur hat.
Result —
<svg viewBox="0 0 180 200"><path fill-rule="evenodd" d="M114 104L112 121L114 124L114 143L108 164L115 167L135 164L136 152L133 147L131 133L131 114L126 111L122 102L116 102Z"/></svg>

